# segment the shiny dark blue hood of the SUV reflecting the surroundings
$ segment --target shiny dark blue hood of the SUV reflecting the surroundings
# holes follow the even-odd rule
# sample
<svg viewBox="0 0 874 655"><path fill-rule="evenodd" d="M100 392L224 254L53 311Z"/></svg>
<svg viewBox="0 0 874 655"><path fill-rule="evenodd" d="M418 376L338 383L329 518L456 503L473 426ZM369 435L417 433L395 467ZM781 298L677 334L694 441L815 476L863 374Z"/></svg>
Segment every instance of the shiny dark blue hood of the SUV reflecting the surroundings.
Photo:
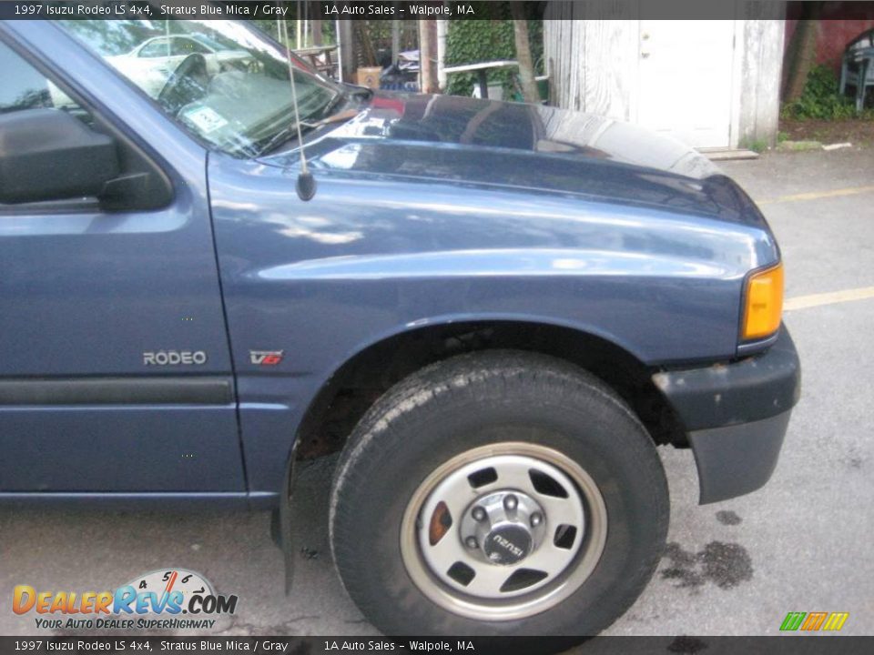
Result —
<svg viewBox="0 0 874 655"><path fill-rule="evenodd" d="M297 158L263 161L291 166ZM679 141L554 107L377 94L354 119L308 143L307 158L317 174L509 186L762 222L730 178Z"/></svg>

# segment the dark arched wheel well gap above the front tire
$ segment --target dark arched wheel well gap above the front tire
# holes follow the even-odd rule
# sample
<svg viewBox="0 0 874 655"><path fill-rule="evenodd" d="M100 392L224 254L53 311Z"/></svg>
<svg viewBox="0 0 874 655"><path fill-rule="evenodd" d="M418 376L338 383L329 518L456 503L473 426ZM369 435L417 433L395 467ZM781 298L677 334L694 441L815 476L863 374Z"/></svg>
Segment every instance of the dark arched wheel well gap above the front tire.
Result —
<svg viewBox="0 0 874 655"><path fill-rule="evenodd" d="M452 323L404 332L361 351L311 403L298 431L298 458L340 450L352 428L389 388L454 355L509 348L570 361L603 379L634 409L656 444L686 445L685 430L652 381L652 368L605 339L571 328L491 321Z"/></svg>

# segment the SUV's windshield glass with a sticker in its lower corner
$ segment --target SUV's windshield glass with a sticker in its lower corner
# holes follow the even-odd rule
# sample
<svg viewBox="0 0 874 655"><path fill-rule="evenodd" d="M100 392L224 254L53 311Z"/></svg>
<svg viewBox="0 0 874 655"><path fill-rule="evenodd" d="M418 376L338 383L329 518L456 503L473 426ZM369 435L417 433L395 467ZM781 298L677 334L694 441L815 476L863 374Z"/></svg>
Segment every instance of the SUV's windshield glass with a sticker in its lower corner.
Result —
<svg viewBox="0 0 874 655"><path fill-rule="evenodd" d="M199 139L257 156L292 135L289 67L269 36L237 21L69 20L60 25ZM296 67L301 121L321 118L341 91Z"/></svg>

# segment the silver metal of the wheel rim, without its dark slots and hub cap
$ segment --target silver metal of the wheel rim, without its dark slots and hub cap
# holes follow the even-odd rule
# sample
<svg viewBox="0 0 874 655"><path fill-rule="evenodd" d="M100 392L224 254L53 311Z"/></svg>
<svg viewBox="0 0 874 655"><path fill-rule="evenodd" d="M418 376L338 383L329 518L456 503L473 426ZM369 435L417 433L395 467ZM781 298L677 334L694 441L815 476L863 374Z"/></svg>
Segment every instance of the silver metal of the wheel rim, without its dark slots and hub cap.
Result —
<svg viewBox="0 0 874 655"><path fill-rule="evenodd" d="M530 475L520 475L526 467L558 482L567 498L559 500L538 491ZM467 478L483 469L495 469L496 479L474 488ZM467 489L459 484L462 480ZM500 493L512 493L519 497L520 506L527 504L520 511L525 512L523 519L529 524L538 508L544 519L539 531L537 527L529 530L531 549L509 565L490 563L484 553L466 543L471 535L473 508ZM452 516L452 525L432 545L429 528L441 502ZM500 514L494 507L492 501L489 519L495 511ZM502 526L506 525L504 519L498 516ZM515 519L522 520L519 516ZM573 525L576 533L573 545L556 553L555 529L559 525ZM401 519L401 558L416 587L442 609L472 619L517 620L548 610L579 589L601 559L606 534L604 498L595 480L579 464L553 448L505 442L465 451L422 481ZM446 570L453 559L473 569L473 579L466 585ZM521 589L502 591L502 585L506 586L519 569L545 571L546 577Z"/></svg>

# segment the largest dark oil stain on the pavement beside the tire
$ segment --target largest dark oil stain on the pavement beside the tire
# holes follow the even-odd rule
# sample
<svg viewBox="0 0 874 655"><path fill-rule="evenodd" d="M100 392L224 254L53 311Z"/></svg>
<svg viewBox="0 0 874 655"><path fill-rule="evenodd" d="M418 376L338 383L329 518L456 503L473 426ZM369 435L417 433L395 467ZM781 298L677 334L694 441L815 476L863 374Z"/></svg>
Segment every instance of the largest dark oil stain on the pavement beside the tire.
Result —
<svg viewBox="0 0 874 655"><path fill-rule="evenodd" d="M676 587L697 589L712 582L719 589L732 589L753 577L753 563L747 549L737 543L711 541L703 550L691 552L671 542L665 550L670 566L662 579L676 580Z"/></svg>

